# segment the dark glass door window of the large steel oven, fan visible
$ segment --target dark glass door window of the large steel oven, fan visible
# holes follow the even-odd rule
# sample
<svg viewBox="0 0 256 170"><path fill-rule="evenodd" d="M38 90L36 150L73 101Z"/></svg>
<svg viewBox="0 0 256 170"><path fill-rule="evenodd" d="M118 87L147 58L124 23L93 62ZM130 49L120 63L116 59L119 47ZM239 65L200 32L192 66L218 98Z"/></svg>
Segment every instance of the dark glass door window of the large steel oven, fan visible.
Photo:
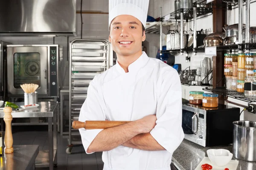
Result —
<svg viewBox="0 0 256 170"><path fill-rule="evenodd" d="M21 88L24 83L41 86L41 69L39 53L15 53L13 62L14 87Z"/></svg>

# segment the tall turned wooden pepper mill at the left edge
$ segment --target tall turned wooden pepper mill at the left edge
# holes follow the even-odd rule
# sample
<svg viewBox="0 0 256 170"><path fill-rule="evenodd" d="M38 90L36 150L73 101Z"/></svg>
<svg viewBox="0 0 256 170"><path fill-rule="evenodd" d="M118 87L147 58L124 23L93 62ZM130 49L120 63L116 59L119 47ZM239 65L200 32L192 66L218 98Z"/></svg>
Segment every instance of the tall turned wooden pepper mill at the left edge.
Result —
<svg viewBox="0 0 256 170"><path fill-rule="evenodd" d="M6 131L4 136L4 144L5 144L5 153L13 153L13 138L12 138L12 108L11 107L5 107L3 109L4 116L3 120L6 123Z"/></svg>

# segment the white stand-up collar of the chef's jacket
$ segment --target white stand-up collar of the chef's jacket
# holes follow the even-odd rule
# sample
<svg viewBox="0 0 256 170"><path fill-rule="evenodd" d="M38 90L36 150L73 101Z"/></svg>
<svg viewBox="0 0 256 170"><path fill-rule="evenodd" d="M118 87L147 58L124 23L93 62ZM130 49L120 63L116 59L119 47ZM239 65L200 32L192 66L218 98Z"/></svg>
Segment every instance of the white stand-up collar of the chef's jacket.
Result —
<svg viewBox="0 0 256 170"><path fill-rule="evenodd" d="M141 56L128 66L128 71L137 72L140 70L140 68L146 65L147 62L148 55L143 51ZM116 59L116 68L120 73L125 74L125 70L121 67L121 65L119 65L118 59Z"/></svg>

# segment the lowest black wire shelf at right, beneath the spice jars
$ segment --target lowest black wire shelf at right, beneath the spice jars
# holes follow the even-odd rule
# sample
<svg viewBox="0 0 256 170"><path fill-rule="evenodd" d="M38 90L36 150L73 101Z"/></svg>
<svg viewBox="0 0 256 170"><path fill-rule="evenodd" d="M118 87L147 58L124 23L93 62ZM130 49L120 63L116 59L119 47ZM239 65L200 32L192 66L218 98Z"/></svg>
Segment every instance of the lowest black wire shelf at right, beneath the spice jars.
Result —
<svg viewBox="0 0 256 170"><path fill-rule="evenodd" d="M233 90L227 90L227 89L225 89L225 87L219 87L219 88L215 88L215 89L203 88L203 90L204 91L209 91L209 92L212 92L212 93L215 93L215 94L220 94L220 95L223 95L223 96L228 96L228 97L238 99L238 100L241 100L241 101L244 101L244 102L249 102L249 103L256 102L256 99L247 99L247 98L244 97L243 93L233 91Z"/></svg>

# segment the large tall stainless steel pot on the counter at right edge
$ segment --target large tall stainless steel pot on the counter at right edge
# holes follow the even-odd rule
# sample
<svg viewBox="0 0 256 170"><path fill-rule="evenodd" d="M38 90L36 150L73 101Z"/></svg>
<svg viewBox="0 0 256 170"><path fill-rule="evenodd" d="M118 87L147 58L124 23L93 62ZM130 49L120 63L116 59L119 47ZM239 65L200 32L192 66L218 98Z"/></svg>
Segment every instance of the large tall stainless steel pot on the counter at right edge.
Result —
<svg viewBox="0 0 256 170"><path fill-rule="evenodd" d="M233 122L233 155L243 161L256 161L256 122Z"/></svg>

